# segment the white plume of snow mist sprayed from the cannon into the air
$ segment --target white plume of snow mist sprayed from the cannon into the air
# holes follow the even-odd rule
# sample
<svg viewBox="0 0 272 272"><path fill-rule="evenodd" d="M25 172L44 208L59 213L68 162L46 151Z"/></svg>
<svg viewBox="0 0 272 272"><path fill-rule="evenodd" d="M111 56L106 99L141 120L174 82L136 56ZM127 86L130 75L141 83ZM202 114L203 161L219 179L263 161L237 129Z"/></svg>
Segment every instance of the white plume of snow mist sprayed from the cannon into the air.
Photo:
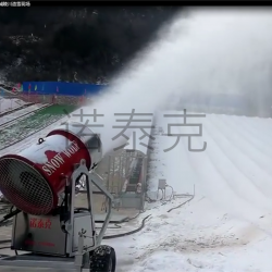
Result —
<svg viewBox="0 0 272 272"><path fill-rule="evenodd" d="M97 121L103 128L94 129L109 141L121 131L115 120L128 119L114 113L153 113L187 94L246 95L261 109L272 88L271 27L264 9L184 11L84 111L104 114Z"/></svg>

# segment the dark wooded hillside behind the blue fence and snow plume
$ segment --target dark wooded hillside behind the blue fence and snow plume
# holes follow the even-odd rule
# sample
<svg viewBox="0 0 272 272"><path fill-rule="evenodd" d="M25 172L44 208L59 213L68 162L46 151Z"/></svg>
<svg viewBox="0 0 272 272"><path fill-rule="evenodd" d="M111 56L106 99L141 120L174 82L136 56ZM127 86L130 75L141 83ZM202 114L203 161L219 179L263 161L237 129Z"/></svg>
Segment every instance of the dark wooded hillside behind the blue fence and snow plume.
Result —
<svg viewBox="0 0 272 272"><path fill-rule="evenodd" d="M0 9L0 70L8 82L106 81L177 7Z"/></svg>

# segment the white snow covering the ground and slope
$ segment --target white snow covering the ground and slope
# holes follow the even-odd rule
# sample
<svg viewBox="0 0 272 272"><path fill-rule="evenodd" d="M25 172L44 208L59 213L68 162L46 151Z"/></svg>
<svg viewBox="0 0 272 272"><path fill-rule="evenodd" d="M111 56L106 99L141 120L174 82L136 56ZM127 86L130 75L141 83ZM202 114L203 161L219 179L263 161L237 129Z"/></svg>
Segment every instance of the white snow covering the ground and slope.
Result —
<svg viewBox="0 0 272 272"><path fill-rule="evenodd" d="M171 134L199 133L197 126L176 126L183 124L182 116L157 118L165 134L171 123ZM176 194L193 194L195 185L195 198L170 212L187 199L148 205L138 218L140 222L151 214L141 232L104 240L116 250L116 272L271 272L272 120L208 114L188 118L187 123L202 125L202 136L191 137L191 148L200 149L206 141L206 150L188 151L186 136L165 152L176 136L154 135L149 195L154 198L158 180L165 178ZM0 156L23 149L47 132Z"/></svg>

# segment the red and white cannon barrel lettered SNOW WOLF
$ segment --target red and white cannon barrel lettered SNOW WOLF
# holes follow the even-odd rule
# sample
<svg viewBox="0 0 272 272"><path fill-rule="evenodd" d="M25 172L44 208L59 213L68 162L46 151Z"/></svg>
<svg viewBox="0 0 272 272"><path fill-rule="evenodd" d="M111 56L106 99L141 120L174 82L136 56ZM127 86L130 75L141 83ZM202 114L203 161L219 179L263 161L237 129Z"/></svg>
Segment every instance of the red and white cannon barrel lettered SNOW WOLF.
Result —
<svg viewBox="0 0 272 272"><path fill-rule="evenodd" d="M88 170L102 159L99 135L86 124L66 122L37 144L0 158L0 191L17 209L48 214L59 201L75 166L85 160Z"/></svg>

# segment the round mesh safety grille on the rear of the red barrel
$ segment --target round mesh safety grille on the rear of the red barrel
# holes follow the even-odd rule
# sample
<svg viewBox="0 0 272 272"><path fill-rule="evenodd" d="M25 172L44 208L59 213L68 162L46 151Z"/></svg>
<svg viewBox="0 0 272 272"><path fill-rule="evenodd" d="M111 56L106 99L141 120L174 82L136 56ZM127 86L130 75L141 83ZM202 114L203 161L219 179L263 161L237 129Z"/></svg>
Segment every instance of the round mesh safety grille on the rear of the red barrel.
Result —
<svg viewBox="0 0 272 272"><path fill-rule="evenodd" d="M29 214L47 214L53 208L48 182L37 170L17 159L0 159L0 190L11 203Z"/></svg>

